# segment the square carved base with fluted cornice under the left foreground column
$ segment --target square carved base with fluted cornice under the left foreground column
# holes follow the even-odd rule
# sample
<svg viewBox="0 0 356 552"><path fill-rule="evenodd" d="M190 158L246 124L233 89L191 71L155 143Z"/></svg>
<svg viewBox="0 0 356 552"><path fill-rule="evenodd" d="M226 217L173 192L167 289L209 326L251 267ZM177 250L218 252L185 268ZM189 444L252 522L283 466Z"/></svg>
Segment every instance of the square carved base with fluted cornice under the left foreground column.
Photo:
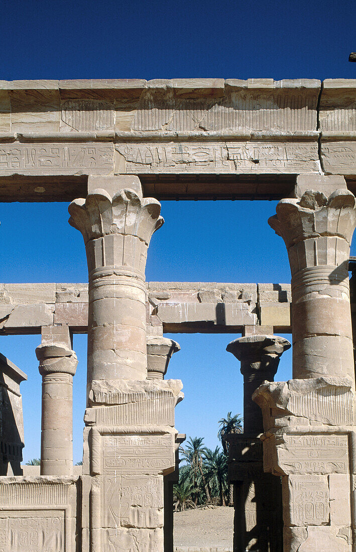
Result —
<svg viewBox="0 0 356 552"><path fill-rule="evenodd" d="M179 380L93 381L84 420L82 552L163 552ZM89 548L88 548L89 546Z"/></svg>

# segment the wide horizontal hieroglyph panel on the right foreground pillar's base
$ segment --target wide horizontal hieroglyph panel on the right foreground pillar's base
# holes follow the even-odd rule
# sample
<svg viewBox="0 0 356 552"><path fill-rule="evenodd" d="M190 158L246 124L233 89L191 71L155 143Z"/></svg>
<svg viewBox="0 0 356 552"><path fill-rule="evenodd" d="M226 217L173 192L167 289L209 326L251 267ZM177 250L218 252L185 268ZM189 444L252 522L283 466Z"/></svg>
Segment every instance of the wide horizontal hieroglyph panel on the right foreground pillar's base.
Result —
<svg viewBox="0 0 356 552"><path fill-rule="evenodd" d="M286 474L344 474L348 471L346 435L284 435L277 462Z"/></svg>

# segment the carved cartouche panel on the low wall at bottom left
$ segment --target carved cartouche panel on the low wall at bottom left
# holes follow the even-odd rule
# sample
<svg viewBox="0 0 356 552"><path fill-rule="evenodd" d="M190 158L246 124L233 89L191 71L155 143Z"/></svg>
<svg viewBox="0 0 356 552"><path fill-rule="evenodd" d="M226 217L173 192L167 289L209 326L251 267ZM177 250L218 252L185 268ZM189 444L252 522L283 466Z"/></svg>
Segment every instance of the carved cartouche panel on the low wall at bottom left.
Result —
<svg viewBox="0 0 356 552"><path fill-rule="evenodd" d="M65 552L64 511L0 512L0 552Z"/></svg>

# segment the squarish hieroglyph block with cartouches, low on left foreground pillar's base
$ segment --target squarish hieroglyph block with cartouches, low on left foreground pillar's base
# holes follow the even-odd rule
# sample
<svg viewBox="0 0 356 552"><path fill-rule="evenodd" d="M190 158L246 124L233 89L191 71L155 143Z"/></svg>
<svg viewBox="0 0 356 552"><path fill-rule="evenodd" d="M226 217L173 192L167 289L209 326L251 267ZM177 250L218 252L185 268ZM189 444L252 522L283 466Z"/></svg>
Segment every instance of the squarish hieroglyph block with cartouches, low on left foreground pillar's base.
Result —
<svg viewBox="0 0 356 552"><path fill-rule="evenodd" d="M121 526L163 527L163 477L121 477Z"/></svg>

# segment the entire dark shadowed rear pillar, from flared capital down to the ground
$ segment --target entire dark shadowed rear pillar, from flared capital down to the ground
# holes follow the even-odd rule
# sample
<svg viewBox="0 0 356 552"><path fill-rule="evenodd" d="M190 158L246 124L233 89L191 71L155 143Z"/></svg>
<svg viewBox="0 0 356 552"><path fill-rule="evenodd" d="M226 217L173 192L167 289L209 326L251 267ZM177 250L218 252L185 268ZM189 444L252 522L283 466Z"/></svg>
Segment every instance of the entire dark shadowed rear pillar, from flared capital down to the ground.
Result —
<svg viewBox="0 0 356 552"><path fill-rule="evenodd" d="M235 491L233 549L258 552L283 550L281 485L263 473L262 412L252 394L263 381L273 381L281 354L290 348L283 337L253 335L226 347L241 362L243 375L243 434L227 436L229 480Z"/></svg>

